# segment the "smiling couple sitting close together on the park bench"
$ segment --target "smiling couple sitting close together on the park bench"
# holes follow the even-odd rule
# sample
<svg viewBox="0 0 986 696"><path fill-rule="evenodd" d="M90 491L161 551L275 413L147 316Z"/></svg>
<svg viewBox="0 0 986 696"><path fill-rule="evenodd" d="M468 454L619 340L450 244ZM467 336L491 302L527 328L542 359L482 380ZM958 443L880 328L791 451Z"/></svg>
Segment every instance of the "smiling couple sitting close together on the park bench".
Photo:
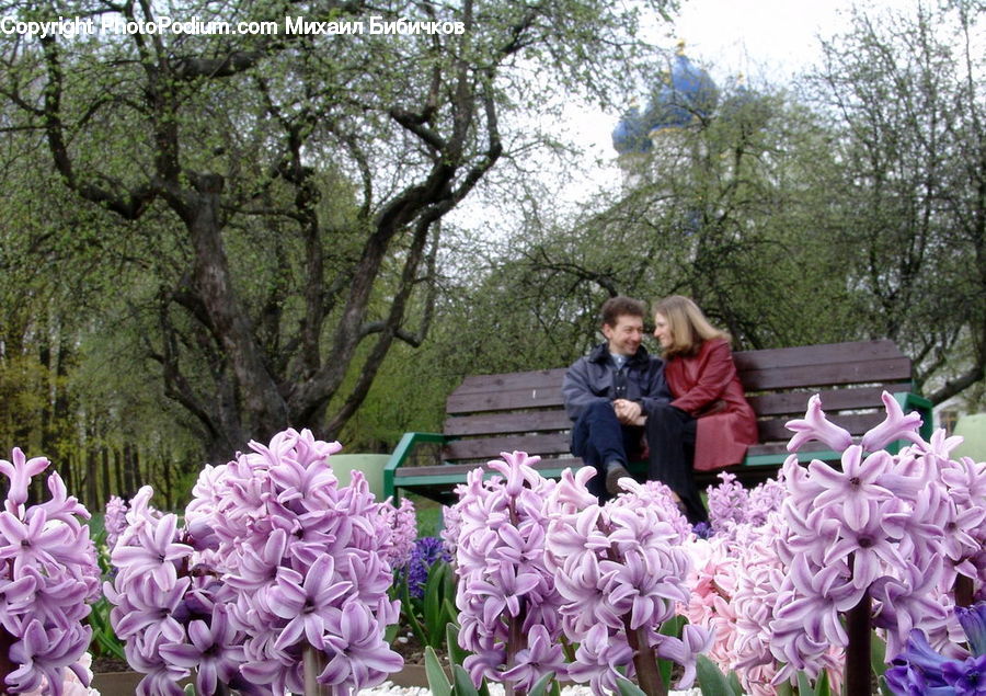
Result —
<svg viewBox="0 0 986 696"><path fill-rule="evenodd" d="M601 309L606 342L565 373L565 410L575 422L572 454L596 469L589 490L619 493L631 460L647 459L647 479L676 495L688 521L708 521L692 468L743 461L757 442L757 420L743 396L729 334L714 329L687 297L654 307L654 338L664 360L641 345L646 308L612 297Z"/></svg>

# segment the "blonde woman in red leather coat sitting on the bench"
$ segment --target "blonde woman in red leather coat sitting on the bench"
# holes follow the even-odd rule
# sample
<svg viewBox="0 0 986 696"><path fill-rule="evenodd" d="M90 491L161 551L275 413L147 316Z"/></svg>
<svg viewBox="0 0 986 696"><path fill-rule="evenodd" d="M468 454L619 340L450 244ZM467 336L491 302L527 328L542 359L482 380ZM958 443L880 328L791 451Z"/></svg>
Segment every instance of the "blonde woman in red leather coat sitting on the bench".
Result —
<svg viewBox="0 0 986 696"><path fill-rule="evenodd" d="M743 396L727 333L679 295L654 307L654 338L664 353L672 402L647 411L649 478L680 499L692 524L709 518L692 468L710 471L740 464L757 442L757 417Z"/></svg>

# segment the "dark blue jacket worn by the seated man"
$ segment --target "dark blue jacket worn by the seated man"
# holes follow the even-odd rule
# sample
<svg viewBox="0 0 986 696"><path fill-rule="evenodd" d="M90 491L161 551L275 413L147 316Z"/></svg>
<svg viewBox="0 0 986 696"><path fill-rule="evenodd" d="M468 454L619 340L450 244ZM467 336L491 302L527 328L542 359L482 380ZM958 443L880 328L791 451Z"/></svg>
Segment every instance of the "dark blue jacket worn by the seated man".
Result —
<svg viewBox="0 0 986 696"><path fill-rule="evenodd" d="M670 401L670 391L664 381L664 361L649 354L644 346L637 350L621 372L622 375L617 375L606 343L572 363L562 383L569 418L578 420L593 401L628 399L640 403L644 413L653 403ZM618 388L620 385L623 389Z"/></svg>

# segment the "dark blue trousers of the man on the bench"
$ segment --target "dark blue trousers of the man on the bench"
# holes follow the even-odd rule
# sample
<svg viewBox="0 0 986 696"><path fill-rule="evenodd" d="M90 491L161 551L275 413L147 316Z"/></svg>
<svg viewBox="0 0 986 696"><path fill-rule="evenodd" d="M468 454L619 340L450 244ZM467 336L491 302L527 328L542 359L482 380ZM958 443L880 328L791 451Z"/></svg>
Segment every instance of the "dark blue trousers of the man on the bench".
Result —
<svg viewBox="0 0 986 696"><path fill-rule="evenodd" d="M642 435L642 427L620 423L610 401L594 401L575 421L572 426L572 454L596 469L596 476L589 479L586 488L600 503L612 498L606 490L605 466L610 461L627 466L630 461L628 454L639 456Z"/></svg>

